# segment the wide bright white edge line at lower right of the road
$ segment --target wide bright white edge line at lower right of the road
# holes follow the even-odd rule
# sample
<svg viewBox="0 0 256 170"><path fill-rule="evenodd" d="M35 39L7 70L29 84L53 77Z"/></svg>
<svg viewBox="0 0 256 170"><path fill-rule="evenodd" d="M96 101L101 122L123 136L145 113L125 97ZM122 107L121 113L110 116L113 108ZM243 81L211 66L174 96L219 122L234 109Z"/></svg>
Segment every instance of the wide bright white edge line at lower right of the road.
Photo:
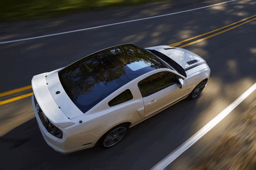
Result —
<svg viewBox="0 0 256 170"><path fill-rule="evenodd" d="M205 135L209 130L211 130L215 125L217 125L222 119L224 119L235 107L237 107L245 98L247 98L256 89L256 83L254 83L248 90L246 90L240 97L238 97L233 103L231 103L227 108L225 108L221 113L219 113L215 118L213 118L209 123L207 123L203 128L191 136L187 141L180 145L177 149L171 152L158 164L156 164L151 170L164 169L172 161L174 161L178 156L185 152L190 146L192 146L197 140L199 140L203 135Z"/></svg>

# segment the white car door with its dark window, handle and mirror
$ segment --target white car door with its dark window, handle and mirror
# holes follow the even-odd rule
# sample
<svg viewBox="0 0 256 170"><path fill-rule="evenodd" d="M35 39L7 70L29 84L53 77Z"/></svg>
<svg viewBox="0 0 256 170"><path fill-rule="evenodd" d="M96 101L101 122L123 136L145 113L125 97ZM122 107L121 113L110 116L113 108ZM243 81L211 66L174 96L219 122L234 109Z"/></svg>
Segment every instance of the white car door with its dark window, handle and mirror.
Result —
<svg viewBox="0 0 256 170"><path fill-rule="evenodd" d="M186 81L182 88L177 86L177 75L162 71L148 76L138 83L145 107L145 117L181 99L186 90Z"/></svg>

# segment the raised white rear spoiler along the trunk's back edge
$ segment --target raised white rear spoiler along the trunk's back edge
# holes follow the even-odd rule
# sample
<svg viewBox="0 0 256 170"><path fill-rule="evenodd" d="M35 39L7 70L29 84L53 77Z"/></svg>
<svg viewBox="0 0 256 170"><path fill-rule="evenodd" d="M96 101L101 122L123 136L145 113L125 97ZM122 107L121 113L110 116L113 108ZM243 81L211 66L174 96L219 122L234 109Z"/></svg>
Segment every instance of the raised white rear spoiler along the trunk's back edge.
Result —
<svg viewBox="0 0 256 170"><path fill-rule="evenodd" d="M37 103L39 104L45 116L52 123L62 127L75 124L75 122L70 121L66 115L64 115L64 113L59 109L53 100L46 85L46 74L47 73L38 74L32 78L32 89Z"/></svg>

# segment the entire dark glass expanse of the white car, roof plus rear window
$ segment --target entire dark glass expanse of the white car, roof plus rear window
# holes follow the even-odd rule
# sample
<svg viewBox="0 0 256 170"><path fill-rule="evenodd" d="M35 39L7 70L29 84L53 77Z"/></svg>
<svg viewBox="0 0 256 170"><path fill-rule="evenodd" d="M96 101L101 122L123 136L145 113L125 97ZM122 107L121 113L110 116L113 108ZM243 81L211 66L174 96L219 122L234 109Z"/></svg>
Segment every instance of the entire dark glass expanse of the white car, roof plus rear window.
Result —
<svg viewBox="0 0 256 170"><path fill-rule="evenodd" d="M159 68L168 67L145 49L124 44L88 55L58 75L69 98L85 113L129 81Z"/></svg>

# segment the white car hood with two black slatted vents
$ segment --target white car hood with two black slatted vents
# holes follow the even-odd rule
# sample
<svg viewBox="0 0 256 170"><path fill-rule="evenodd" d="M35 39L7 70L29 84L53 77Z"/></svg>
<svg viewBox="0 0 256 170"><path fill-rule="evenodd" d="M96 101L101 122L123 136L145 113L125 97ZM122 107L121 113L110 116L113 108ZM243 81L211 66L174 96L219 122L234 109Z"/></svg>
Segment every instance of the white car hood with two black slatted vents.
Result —
<svg viewBox="0 0 256 170"><path fill-rule="evenodd" d="M195 53L178 47L170 47L168 45L161 45L161 46L153 46L146 49L153 49L156 51L159 51L166 56L173 59L175 62L177 62L182 68L186 69L190 66L193 66L195 64L198 64L200 62L205 62L203 58L196 55ZM197 60L197 62L188 64L187 62Z"/></svg>

